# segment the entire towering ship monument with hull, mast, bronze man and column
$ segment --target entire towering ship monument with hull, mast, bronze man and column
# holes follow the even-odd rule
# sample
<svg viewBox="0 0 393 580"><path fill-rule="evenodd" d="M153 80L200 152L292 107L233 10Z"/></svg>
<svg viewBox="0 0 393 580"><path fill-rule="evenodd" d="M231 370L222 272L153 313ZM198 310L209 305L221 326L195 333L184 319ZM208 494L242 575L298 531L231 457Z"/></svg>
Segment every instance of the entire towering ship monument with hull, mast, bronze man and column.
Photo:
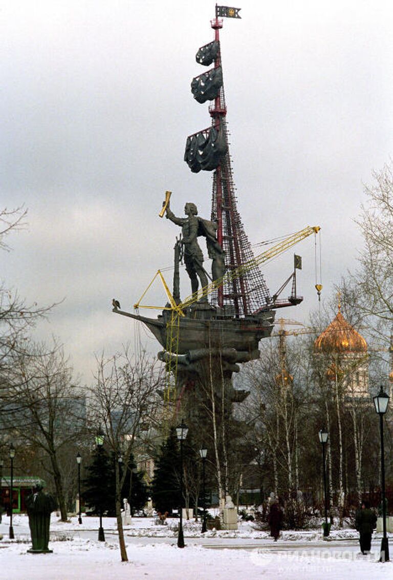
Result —
<svg viewBox="0 0 393 580"><path fill-rule="evenodd" d="M210 103L211 124L187 137L184 153L184 160L192 172L213 171L210 219L201 218L197 206L189 201L185 204L184 216L176 216L167 191L159 216L165 215L181 228L174 246L172 292L162 273L156 274L166 289L168 303L157 318L139 314L141 300L134 305L138 309L136 313L118 307L114 307L114 312L143 322L162 346L158 358L166 363L168 370L168 385L163 396L172 402L175 416L181 414L188 423L198 425L196 432L210 432L208 427L201 429L201 425L212 420L216 413L214 408L220 409L220 416L214 415L216 427L226 421L230 437L224 441L224 431L217 427L214 446L217 449L217 437L221 438L219 445L224 449L224 457L228 458L231 441L245 430L245 425L233 418L232 404L248 396L247 391L234 389L232 374L239 371L239 363L260 357L259 342L271 335L275 309L294 306L302 300L296 295L299 260L274 295L267 288L260 265L316 233L319 227L306 227L259 256L252 251L237 209L232 176L219 38L223 19L220 16L239 18L239 9L216 6L216 17L211 21L214 39L196 53L200 66L212 66L191 82L196 102ZM205 269L203 260L203 240L212 260L210 272ZM179 282L182 260L191 281L191 294L183 300ZM290 296L279 298L290 281ZM205 444L207 442L205 438ZM221 490L228 489L228 482L221 484Z"/></svg>

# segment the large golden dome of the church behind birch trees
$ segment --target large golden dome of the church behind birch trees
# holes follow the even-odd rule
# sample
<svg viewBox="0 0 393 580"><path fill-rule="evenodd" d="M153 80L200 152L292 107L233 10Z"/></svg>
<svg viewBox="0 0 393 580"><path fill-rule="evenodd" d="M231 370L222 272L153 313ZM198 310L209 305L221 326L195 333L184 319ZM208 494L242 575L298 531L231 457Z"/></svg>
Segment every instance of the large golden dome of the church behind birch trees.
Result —
<svg viewBox="0 0 393 580"><path fill-rule="evenodd" d="M340 307L336 318L315 340L315 350L339 353L365 353L367 343L341 314Z"/></svg>

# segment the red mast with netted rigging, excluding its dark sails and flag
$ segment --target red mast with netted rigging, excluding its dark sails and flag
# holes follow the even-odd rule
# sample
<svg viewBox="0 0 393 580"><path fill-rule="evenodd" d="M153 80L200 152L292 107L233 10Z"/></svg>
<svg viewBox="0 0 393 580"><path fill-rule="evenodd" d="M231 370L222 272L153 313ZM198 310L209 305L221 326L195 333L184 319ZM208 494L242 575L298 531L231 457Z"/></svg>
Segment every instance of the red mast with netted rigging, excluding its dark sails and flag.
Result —
<svg viewBox="0 0 393 580"><path fill-rule="evenodd" d="M211 21L211 26L214 30L214 40L219 43L219 31L223 27L223 20L216 17ZM214 68L219 67L222 69L221 49L214 60ZM228 147L224 85L221 86L219 94L214 99L214 105L210 105L209 113L212 117L212 125L217 132L221 128L227 143L227 151L221 157L220 164L213 174L212 220L217 221L217 240L225 251L225 266L227 270L231 270L249 262L254 255L236 208L235 184ZM230 284L225 284L217 291L217 305L234 306L236 317L252 314L270 302L270 293L258 267L232 280Z"/></svg>

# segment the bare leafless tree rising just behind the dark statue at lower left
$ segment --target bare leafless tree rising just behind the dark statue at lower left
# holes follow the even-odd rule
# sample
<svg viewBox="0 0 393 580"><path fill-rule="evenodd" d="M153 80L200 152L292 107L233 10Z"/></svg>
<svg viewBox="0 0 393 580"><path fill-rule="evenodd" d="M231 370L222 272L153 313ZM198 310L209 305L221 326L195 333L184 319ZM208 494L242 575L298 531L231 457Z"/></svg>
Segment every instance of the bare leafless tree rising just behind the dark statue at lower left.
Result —
<svg viewBox="0 0 393 580"><path fill-rule="evenodd" d="M3 426L21 443L43 452L42 465L53 478L61 520L66 521L59 455L84 426L85 398L72 380L72 368L56 342L52 349L28 342L23 353L13 353L6 378Z"/></svg>

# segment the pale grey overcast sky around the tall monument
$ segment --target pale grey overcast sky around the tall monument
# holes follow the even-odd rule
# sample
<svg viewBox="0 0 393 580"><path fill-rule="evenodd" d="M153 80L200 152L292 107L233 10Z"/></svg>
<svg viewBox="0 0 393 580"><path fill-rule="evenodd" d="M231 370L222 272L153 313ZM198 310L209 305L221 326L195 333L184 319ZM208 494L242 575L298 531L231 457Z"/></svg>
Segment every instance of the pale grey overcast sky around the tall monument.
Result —
<svg viewBox="0 0 393 580"><path fill-rule="evenodd" d="M362 184L392 154L393 4L238 7L242 19L221 30L238 209L252 244L321 226L329 299L361 248ZM195 53L213 39L213 16L210 0L1 2L1 206L28 208L1 276L28 301L64 299L37 336L58 336L85 382L94 352L133 341L112 298L132 311L172 264L165 190L177 215L193 201L210 217L212 173L192 174L183 155L187 135L210 124L190 82L205 70ZM318 307L312 237L296 253L304 303L279 316L307 322ZM271 292L292 261L290 251L265 268ZM159 285L146 302L165 302Z"/></svg>

